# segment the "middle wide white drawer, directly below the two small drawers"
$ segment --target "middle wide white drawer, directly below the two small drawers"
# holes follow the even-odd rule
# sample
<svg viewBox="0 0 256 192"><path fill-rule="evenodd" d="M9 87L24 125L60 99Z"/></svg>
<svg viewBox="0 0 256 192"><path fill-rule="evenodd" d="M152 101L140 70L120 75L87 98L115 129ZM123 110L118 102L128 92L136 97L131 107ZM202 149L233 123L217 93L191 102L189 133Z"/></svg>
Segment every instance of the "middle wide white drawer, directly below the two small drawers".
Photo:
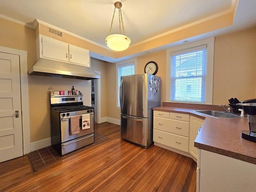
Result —
<svg viewBox="0 0 256 192"><path fill-rule="evenodd" d="M189 136L189 122L154 117L153 128L173 134Z"/></svg>

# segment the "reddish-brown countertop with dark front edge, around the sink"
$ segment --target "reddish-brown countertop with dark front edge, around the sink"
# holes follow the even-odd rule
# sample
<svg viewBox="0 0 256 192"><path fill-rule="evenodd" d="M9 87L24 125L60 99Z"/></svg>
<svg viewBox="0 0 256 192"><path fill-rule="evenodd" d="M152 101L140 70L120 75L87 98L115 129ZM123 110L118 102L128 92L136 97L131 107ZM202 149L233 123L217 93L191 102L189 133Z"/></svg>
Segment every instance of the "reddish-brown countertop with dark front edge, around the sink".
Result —
<svg viewBox="0 0 256 192"><path fill-rule="evenodd" d="M256 164L256 143L241 138L241 132L249 130L247 118L221 119L195 112L204 110L202 107L159 106L153 110L185 113L204 119L194 142L195 147Z"/></svg>

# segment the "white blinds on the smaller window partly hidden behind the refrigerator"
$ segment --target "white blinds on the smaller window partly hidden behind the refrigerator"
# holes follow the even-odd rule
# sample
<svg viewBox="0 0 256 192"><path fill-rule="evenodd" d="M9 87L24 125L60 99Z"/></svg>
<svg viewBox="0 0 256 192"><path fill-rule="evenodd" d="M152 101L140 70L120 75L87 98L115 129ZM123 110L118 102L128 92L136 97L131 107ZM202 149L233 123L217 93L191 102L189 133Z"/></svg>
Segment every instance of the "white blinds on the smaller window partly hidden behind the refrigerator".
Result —
<svg viewBox="0 0 256 192"><path fill-rule="evenodd" d="M121 76L134 75L134 62L118 66L118 107L120 107Z"/></svg>

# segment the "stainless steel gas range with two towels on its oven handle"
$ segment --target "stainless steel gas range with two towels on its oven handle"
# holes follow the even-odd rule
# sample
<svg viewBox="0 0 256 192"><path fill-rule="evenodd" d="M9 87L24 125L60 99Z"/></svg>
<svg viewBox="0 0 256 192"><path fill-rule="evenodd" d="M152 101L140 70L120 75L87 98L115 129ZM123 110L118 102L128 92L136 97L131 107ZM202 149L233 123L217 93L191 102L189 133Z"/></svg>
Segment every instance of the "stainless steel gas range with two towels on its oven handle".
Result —
<svg viewBox="0 0 256 192"><path fill-rule="evenodd" d="M52 147L61 156L94 143L94 108L83 95L51 95Z"/></svg>

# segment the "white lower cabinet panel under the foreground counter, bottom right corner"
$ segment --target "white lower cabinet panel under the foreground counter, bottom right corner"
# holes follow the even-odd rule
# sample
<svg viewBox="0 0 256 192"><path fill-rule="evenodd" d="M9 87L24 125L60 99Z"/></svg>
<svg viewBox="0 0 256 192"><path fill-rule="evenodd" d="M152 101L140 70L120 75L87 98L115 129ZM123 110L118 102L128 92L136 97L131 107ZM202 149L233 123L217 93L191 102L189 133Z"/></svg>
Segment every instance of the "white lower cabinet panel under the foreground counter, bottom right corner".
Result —
<svg viewBox="0 0 256 192"><path fill-rule="evenodd" d="M254 192L256 165L199 149L197 192Z"/></svg>

